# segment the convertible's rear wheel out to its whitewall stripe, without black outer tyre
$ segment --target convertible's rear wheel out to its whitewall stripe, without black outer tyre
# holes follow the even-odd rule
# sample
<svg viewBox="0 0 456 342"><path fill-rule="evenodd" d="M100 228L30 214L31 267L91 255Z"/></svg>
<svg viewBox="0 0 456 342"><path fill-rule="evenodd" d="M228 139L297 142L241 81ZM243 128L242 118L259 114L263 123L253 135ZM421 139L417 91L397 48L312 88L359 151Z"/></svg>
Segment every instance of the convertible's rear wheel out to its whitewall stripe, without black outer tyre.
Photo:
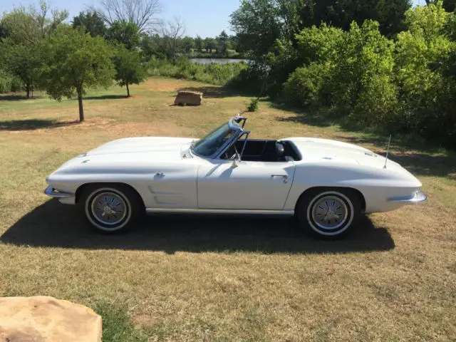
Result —
<svg viewBox="0 0 456 342"><path fill-rule="evenodd" d="M315 232L334 236L353 222L353 203L341 192L329 191L316 195L307 207L307 222Z"/></svg>

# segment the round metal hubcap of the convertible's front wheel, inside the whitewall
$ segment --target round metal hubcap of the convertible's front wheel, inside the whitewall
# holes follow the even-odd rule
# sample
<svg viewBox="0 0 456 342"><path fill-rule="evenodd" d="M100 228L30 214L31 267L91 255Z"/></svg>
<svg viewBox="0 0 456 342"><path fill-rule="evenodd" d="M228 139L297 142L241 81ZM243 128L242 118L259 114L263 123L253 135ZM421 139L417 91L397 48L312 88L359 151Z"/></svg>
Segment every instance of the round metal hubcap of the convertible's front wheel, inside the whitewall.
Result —
<svg viewBox="0 0 456 342"><path fill-rule="evenodd" d="M114 192L101 192L92 201L92 214L100 223L118 224L127 214L125 200Z"/></svg>

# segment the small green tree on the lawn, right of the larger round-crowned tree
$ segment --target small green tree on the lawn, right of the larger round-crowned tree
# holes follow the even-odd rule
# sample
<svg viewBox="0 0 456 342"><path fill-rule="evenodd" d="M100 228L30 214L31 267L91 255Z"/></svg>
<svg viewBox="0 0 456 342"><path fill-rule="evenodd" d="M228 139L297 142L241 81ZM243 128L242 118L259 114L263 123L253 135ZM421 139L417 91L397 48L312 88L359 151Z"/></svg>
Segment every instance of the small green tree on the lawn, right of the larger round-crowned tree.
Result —
<svg viewBox="0 0 456 342"><path fill-rule="evenodd" d="M118 46L113 57L115 67L115 81L121 87L127 88L127 95L130 97L130 84L140 84L147 78L145 67L142 66L138 51L129 51L124 46Z"/></svg>

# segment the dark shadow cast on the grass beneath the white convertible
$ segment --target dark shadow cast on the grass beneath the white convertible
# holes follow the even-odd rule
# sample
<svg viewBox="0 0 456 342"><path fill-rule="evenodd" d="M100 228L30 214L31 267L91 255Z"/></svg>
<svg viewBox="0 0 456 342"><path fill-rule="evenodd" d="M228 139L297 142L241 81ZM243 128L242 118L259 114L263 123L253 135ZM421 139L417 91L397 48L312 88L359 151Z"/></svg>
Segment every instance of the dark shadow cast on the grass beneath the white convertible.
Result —
<svg viewBox="0 0 456 342"><path fill-rule="evenodd" d="M351 253L386 251L395 244L388 230L363 219L345 239L307 237L294 219L155 215L131 232L103 235L90 229L75 207L56 199L41 204L0 237L5 244L80 249L175 252Z"/></svg>

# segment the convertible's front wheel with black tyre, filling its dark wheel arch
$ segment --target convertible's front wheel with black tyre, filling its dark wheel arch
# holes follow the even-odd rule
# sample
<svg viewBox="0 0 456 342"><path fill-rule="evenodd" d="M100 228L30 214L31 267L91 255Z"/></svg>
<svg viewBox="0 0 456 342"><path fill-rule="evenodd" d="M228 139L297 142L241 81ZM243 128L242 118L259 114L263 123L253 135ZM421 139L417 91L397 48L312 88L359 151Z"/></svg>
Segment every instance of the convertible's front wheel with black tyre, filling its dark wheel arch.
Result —
<svg viewBox="0 0 456 342"><path fill-rule="evenodd" d="M144 213L140 196L126 185L90 185L80 204L90 225L105 234L131 228Z"/></svg>

